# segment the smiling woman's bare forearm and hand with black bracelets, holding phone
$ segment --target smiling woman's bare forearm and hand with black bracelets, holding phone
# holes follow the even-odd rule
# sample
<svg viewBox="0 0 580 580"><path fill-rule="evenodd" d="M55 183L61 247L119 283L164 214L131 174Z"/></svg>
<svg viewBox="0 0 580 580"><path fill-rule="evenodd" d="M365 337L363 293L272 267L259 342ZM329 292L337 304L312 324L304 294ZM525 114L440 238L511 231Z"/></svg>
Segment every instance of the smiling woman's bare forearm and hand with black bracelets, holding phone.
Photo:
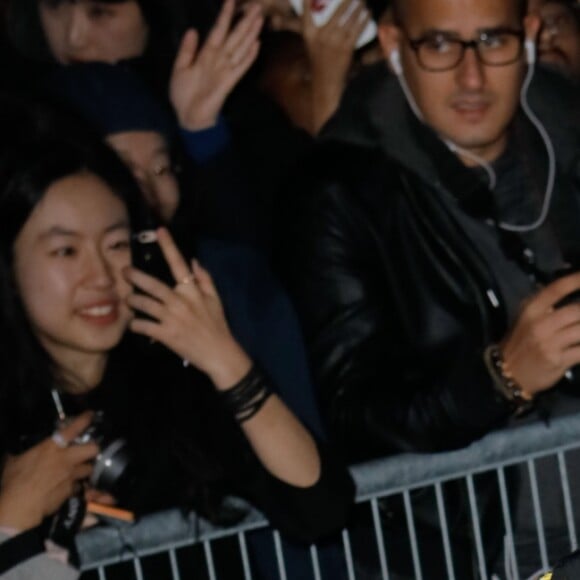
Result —
<svg viewBox="0 0 580 580"><path fill-rule="evenodd" d="M247 378L253 362L233 338L209 274L199 264L190 267L185 262L166 230L159 230L158 239L177 285L169 288L130 270L128 279L145 294L133 294L129 305L153 319L135 318L131 329L206 373L219 392L231 392ZM256 396L266 394L262 386L267 388L260 385ZM314 439L276 394L263 401L259 412L241 422L256 456L278 479L300 487L313 485L321 472ZM237 415L235 409L233 413Z"/></svg>

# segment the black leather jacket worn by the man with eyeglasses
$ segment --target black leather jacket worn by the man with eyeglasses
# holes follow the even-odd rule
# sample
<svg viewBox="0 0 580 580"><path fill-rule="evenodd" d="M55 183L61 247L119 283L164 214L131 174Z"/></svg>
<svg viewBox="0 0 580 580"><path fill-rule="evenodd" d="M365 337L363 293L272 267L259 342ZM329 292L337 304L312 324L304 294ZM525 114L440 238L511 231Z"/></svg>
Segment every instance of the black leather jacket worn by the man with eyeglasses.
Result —
<svg viewBox="0 0 580 580"><path fill-rule="evenodd" d="M530 100L557 147L549 227L568 259L580 249L575 103L567 85L542 78ZM526 119L514 134L534 170L544 167ZM380 69L347 94L305 173L290 283L322 406L349 458L460 447L505 424L510 405L482 352L535 287L485 222L487 185L412 117Z"/></svg>

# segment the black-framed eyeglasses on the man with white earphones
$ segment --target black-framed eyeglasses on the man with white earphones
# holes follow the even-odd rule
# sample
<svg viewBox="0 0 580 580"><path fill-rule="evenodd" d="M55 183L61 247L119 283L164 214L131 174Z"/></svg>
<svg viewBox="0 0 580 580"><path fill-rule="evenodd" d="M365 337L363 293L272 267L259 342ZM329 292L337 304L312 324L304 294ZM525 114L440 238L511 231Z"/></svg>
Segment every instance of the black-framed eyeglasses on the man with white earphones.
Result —
<svg viewBox="0 0 580 580"><path fill-rule="evenodd" d="M409 38L408 41L421 68L443 72L459 66L468 48L472 48L479 61L485 65L512 64L522 56L524 39L523 30L493 28L482 30L472 40L461 40L441 32Z"/></svg>

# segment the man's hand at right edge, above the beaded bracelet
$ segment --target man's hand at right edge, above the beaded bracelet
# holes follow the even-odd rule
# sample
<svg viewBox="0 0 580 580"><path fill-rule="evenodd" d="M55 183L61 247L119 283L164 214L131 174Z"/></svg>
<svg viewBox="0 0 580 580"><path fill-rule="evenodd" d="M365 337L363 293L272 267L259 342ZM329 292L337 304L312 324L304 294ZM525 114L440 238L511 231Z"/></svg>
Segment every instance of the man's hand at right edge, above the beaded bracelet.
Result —
<svg viewBox="0 0 580 580"><path fill-rule="evenodd" d="M524 306L500 347L506 369L530 395L553 387L580 363L580 302L555 305L580 290L580 273L560 278Z"/></svg>

